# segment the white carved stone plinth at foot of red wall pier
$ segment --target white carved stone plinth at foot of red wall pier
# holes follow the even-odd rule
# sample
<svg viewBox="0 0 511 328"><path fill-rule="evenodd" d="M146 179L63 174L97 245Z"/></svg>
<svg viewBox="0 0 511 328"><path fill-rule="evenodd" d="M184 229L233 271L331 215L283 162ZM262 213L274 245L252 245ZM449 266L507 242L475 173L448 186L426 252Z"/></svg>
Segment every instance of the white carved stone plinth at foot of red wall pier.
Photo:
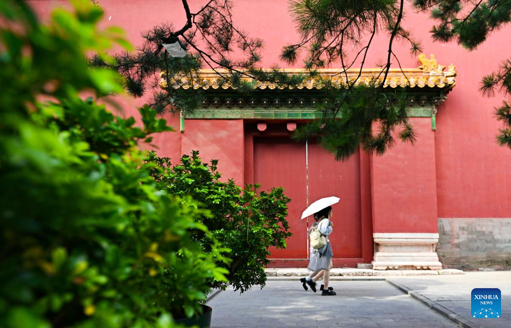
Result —
<svg viewBox="0 0 511 328"><path fill-rule="evenodd" d="M436 255L438 234L375 233L374 270L442 269Z"/></svg>

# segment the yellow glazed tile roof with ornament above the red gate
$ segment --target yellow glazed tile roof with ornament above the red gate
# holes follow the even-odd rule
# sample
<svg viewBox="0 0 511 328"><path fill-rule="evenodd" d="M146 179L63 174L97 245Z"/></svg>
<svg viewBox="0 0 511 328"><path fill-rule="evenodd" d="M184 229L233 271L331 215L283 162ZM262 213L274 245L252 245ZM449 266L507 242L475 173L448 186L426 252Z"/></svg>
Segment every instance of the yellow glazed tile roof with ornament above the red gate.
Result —
<svg viewBox="0 0 511 328"><path fill-rule="evenodd" d="M383 81L383 74L380 68L364 68L360 73L360 69L318 69L318 76L305 79L298 85L285 85L271 82L254 81L250 77L243 77L242 79L253 84L254 89L321 89L329 81L333 87L345 88L349 84L355 82L355 86L360 84L374 85L373 82L377 79L376 85L384 83L383 87L387 88L434 88L449 90L456 84L456 70L453 64L449 65L447 70L445 66L438 65L434 55L426 58L425 54L419 55L419 63L417 68L391 68L387 74L385 82ZM305 69L285 68L282 69L290 75L307 74ZM360 77L359 77L360 73ZM190 75L174 76L170 78L169 83L166 79L162 78L160 87L162 89L173 88L184 90L188 89L220 89L220 90L234 90L225 76L228 75L227 70L223 69L200 69L198 73ZM165 75L165 71L161 72L161 76Z"/></svg>

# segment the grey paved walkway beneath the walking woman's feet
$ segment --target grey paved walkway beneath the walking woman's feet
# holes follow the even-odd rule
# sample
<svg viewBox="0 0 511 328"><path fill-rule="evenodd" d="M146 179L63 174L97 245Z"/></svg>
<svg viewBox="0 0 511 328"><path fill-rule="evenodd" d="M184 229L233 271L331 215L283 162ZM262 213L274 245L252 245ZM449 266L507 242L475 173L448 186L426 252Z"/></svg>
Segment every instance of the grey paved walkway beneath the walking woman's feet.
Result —
<svg viewBox="0 0 511 328"><path fill-rule="evenodd" d="M299 281L268 281L208 302L212 327L457 327L385 281L333 281L336 296L305 291Z"/></svg>

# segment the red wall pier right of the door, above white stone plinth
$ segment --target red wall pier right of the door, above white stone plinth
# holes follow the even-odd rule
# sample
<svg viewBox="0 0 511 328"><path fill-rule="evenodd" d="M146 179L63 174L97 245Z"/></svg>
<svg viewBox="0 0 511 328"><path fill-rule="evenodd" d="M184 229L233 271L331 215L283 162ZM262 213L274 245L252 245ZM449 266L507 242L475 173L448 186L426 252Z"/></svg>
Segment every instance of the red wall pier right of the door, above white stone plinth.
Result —
<svg viewBox="0 0 511 328"><path fill-rule="evenodd" d="M371 159L373 231L438 232L435 181L435 137L431 118L411 119L416 142L398 142Z"/></svg>

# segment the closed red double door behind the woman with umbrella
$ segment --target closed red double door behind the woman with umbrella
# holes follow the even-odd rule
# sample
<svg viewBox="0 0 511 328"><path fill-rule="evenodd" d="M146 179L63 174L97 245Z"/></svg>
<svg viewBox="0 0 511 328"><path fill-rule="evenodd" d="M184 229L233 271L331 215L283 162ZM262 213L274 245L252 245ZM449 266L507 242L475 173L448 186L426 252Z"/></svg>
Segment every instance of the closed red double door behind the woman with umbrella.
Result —
<svg viewBox="0 0 511 328"><path fill-rule="evenodd" d="M358 152L350 160L338 162L317 143L254 138L254 182L263 190L284 187L291 198L287 219L293 236L287 240L286 249L271 249L270 259L289 259L290 263L307 259L307 227L314 219L300 220L301 213L319 198L337 196L341 201L333 206L334 231L330 237L334 266L362 262Z"/></svg>

